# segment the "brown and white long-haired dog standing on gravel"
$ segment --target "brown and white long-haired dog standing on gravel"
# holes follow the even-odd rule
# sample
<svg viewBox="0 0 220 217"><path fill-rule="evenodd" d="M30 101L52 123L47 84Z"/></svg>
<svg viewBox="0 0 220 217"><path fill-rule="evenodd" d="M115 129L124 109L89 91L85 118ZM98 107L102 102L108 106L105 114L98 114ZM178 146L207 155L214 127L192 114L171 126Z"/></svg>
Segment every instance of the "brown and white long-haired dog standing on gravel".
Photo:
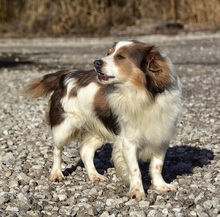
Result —
<svg viewBox="0 0 220 217"><path fill-rule="evenodd" d="M154 46L128 40L94 61L95 70L63 70L32 81L25 94L51 94L48 120L54 138L52 181L61 181L61 154L75 140L91 181L104 181L94 166L95 151L113 144L117 173L128 195L144 199L138 160L150 160L152 184L175 190L162 175L166 150L181 109L181 85L171 61Z"/></svg>

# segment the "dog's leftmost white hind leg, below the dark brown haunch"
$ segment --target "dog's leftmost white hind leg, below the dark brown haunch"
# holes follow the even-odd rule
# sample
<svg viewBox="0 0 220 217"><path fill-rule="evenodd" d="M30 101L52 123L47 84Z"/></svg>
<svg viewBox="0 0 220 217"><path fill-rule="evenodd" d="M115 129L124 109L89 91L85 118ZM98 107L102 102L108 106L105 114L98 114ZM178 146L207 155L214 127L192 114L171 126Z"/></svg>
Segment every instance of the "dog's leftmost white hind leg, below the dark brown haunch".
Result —
<svg viewBox="0 0 220 217"><path fill-rule="evenodd" d="M65 145L71 140L73 133L72 126L68 120L63 121L61 124L52 127L54 138L54 151L53 151L53 166L50 174L50 180L53 182L60 182L64 179L61 163L62 163L62 150Z"/></svg>

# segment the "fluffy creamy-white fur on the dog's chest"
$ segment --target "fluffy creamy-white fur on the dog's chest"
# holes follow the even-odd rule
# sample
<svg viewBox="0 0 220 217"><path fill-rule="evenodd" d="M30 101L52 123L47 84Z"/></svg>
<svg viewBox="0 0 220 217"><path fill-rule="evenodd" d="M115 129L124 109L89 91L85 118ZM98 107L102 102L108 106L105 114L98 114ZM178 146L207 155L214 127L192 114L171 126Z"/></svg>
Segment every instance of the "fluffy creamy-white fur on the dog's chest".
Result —
<svg viewBox="0 0 220 217"><path fill-rule="evenodd" d="M119 117L121 136L141 145L142 141L160 146L172 138L181 108L181 93L164 91L152 99L143 89L124 88L109 96Z"/></svg>

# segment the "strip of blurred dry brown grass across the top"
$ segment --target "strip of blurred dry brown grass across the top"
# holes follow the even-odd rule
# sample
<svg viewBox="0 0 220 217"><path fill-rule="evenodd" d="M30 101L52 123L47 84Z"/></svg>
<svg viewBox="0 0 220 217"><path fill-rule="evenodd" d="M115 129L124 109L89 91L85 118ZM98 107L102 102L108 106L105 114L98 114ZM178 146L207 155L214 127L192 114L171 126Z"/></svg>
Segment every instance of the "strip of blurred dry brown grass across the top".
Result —
<svg viewBox="0 0 220 217"><path fill-rule="evenodd" d="M220 0L0 0L1 37L220 30Z"/></svg>

